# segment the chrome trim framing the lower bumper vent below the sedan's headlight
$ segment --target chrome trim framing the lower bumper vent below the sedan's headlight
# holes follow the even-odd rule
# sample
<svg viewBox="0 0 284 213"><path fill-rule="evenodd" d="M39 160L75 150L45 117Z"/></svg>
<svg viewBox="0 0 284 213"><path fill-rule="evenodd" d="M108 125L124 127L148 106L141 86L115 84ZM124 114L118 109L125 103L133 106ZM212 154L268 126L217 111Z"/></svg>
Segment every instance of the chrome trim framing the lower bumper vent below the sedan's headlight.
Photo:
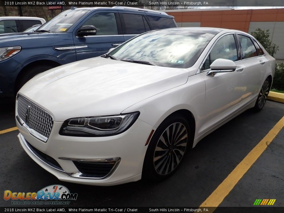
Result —
<svg viewBox="0 0 284 213"><path fill-rule="evenodd" d="M121 160L120 157L107 158L107 159L74 159L74 158L59 157L59 159L78 161L78 162L88 162L88 163L90 163L90 162L94 162L94 163L102 162L103 163L103 162L115 161L114 166L112 167L112 170L110 170L110 172L102 178L84 177L83 176L84 174L80 171L78 171L78 172L66 172L67 175L69 175L73 178L85 178L85 179L105 179L105 178L108 178L116 170L116 168L117 168L117 166L118 166L118 164L120 163L120 160Z"/></svg>

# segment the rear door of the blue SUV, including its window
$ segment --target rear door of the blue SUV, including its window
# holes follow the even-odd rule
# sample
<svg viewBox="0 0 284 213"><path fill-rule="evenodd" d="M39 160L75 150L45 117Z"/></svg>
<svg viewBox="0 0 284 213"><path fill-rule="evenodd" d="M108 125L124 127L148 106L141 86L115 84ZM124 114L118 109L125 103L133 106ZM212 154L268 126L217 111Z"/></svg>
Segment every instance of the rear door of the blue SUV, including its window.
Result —
<svg viewBox="0 0 284 213"><path fill-rule="evenodd" d="M125 41L151 30L144 12L119 11L119 15Z"/></svg>

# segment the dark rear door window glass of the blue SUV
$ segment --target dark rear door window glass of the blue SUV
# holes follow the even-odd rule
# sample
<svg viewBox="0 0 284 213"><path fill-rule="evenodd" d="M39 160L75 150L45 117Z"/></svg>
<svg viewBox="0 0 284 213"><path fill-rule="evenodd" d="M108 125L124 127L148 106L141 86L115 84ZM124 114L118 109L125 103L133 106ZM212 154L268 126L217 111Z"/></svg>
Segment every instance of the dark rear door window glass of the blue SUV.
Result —
<svg viewBox="0 0 284 213"><path fill-rule="evenodd" d="M125 24L123 34L132 35L146 32L142 15L123 13L122 16Z"/></svg>

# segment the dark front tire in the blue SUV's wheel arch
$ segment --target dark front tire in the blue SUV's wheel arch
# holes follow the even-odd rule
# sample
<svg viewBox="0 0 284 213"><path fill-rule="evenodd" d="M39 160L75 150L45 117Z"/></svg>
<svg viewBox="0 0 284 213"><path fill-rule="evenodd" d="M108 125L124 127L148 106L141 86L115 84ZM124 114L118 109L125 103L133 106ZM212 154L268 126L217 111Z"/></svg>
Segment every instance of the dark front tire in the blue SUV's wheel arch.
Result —
<svg viewBox="0 0 284 213"><path fill-rule="evenodd" d="M36 65L33 66L32 68L25 70L25 73L21 76L19 81L17 82L16 85L16 93L20 90L20 88L27 83L30 79L32 79L35 75L44 72L46 70L50 70L54 68L52 65Z"/></svg>

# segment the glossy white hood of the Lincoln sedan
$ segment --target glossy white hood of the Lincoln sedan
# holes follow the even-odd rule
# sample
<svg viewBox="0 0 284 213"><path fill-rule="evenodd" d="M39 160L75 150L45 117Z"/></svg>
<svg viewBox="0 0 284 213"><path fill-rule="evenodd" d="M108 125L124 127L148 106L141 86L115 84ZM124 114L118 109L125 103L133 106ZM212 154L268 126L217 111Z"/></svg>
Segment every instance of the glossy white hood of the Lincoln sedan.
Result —
<svg viewBox="0 0 284 213"><path fill-rule="evenodd" d="M36 75L19 91L55 121L120 114L144 99L187 82L187 69L96 57Z"/></svg>

